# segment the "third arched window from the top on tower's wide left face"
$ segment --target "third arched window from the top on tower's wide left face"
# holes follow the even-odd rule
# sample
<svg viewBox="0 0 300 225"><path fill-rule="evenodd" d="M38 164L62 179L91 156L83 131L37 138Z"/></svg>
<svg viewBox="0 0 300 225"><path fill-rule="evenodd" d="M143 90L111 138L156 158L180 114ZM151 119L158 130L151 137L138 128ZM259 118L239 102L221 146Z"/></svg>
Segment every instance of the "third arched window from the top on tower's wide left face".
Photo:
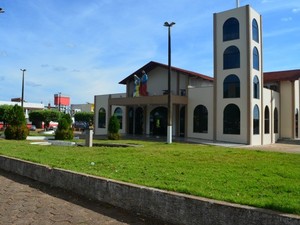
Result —
<svg viewBox="0 0 300 225"><path fill-rule="evenodd" d="M238 76L231 74L224 79L223 98L240 97L240 79Z"/></svg>

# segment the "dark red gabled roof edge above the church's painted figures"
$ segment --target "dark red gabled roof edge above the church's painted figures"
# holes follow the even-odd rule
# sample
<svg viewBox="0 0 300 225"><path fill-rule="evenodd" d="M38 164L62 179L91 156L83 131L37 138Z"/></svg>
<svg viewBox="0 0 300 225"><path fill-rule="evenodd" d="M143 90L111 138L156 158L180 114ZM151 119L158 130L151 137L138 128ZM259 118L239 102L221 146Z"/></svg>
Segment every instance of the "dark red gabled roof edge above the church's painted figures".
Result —
<svg viewBox="0 0 300 225"><path fill-rule="evenodd" d="M120 81L119 84L126 84L127 80L133 80L133 75L134 74L141 74L143 70L145 70L146 72L149 72L151 70L153 70L156 67L163 67L168 69L168 65L166 64L162 64L162 63L158 63L158 62L154 62L151 61L149 63L147 63L146 65L144 65L143 67L141 67L140 69L138 69L137 71L135 71L134 73L130 74L129 76L127 76L124 80ZM171 66L171 70L175 71L175 72L180 72L182 74L188 75L188 76L195 76L195 77L199 77L202 78L204 80L209 80L209 81L213 81L214 78L200 74L200 73L196 73L196 72L192 72L189 70L184 70L184 69L180 69L174 66Z"/></svg>

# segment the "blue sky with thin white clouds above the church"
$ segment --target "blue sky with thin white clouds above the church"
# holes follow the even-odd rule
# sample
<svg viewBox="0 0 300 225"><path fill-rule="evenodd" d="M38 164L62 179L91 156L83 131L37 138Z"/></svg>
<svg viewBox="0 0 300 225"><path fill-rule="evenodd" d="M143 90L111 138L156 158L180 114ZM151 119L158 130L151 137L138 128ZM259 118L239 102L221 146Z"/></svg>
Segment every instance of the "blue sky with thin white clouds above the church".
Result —
<svg viewBox="0 0 300 225"><path fill-rule="evenodd" d="M262 15L264 71L300 69L300 1L240 0ZM0 101L93 103L150 61L213 76L213 14L236 0L0 0Z"/></svg>

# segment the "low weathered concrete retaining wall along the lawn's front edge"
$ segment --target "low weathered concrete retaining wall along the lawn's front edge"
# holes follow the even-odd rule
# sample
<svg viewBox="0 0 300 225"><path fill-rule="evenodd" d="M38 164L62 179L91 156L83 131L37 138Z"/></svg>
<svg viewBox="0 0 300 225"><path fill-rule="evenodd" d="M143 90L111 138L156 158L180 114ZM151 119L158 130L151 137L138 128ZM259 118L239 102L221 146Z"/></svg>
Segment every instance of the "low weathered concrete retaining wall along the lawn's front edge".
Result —
<svg viewBox="0 0 300 225"><path fill-rule="evenodd" d="M178 225L299 225L300 216L161 191L0 156L0 169Z"/></svg>

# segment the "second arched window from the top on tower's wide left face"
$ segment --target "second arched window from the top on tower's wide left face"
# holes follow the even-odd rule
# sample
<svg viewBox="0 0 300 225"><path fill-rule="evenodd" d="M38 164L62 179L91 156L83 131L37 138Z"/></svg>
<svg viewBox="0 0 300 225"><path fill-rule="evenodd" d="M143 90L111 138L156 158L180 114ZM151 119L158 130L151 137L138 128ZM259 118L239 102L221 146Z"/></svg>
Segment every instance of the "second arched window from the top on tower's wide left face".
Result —
<svg viewBox="0 0 300 225"><path fill-rule="evenodd" d="M240 68L240 50L236 46L226 48L223 55L223 68Z"/></svg>

